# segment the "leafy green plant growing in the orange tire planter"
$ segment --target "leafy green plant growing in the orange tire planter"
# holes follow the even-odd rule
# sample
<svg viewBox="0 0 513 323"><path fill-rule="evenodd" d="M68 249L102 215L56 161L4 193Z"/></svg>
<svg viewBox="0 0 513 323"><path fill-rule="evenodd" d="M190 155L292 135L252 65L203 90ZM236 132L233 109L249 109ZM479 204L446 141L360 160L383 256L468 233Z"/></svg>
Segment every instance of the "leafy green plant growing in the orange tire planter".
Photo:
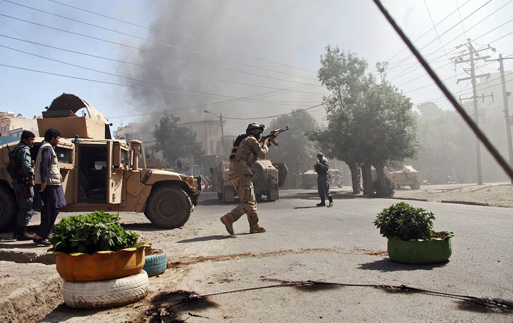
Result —
<svg viewBox="0 0 513 323"><path fill-rule="evenodd" d="M65 217L53 227L50 251L92 254L142 246L139 235L125 231L119 220L104 211Z"/></svg>

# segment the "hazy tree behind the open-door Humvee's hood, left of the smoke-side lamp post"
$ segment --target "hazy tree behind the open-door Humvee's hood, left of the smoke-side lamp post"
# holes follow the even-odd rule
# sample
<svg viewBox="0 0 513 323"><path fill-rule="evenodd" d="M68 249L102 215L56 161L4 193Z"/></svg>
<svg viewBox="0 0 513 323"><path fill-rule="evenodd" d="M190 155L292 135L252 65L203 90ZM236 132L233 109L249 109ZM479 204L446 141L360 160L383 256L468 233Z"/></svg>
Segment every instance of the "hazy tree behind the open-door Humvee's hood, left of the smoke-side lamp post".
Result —
<svg viewBox="0 0 513 323"><path fill-rule="evenodd" d="M196 133L190 127L178 125L179 121L180 117L164 112L152 132L155 150L162 151L168 163L174 163L179 157L204 154L201 144L196 142Z"/></svg>

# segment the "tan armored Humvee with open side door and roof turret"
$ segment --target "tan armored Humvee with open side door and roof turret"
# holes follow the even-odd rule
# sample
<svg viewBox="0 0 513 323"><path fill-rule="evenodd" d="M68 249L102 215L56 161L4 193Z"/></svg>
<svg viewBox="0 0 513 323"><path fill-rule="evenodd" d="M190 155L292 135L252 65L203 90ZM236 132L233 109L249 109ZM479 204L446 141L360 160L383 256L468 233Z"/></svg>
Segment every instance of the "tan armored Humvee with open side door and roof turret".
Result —
<svg viewBox="0 0 513 323"><path fill-rule="evenodd" d="M78 113L82 113L79 116ZM160 228L183 226L198 205L201 177L145 167L140 140L112 139L105 116L73 94L55 98L37 119L39 135L32 160L48 128L61 132L55 152L67 206L63 212L144 212ZM10 149L17 143L8 144ZM17 204L6 171L6 145L0 148L0 230L14 225ZM143 164L143 167L140 167Z"/></svg>

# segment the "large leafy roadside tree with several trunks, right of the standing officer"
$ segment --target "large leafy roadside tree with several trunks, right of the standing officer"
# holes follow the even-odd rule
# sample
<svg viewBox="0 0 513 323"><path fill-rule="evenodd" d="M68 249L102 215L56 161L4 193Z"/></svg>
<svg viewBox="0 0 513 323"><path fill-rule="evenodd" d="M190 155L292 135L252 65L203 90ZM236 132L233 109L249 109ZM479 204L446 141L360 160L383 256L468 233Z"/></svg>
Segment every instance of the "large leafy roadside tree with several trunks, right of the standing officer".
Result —
<svg viewBox="0 0 513 323"><path fill-rule="evenodd" d="M386 82L386 64L377 64L381 84L371 74L364 75L366 67L366 60L356 54L326 47L318 76L331 92L323 98L328 126L310 132L309 138L346 162L354 193L360 192L359 165L364 194L372 193L371 166L376 168L378 192L387 194L385 166L415 157L417 123L409 98Z"/></svg>

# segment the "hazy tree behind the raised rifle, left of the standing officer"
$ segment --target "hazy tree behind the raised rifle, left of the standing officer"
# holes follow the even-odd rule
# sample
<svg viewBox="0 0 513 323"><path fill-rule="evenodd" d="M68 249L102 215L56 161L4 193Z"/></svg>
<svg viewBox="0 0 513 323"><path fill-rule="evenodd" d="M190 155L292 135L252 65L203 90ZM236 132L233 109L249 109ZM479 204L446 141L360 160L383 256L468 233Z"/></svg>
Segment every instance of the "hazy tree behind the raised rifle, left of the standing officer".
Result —
<svg viewBox="0 0 513 323"><path fill-rule="evenodd" d="M267 158L285 161L290 172L305 172L311 169L314 164L315 148L305 133L317 127L317 122L307 111L298 109L273 119L269 130L285 126L289 126L290 129L278 136L277 142L280 146L269 149Z"/></svg>

